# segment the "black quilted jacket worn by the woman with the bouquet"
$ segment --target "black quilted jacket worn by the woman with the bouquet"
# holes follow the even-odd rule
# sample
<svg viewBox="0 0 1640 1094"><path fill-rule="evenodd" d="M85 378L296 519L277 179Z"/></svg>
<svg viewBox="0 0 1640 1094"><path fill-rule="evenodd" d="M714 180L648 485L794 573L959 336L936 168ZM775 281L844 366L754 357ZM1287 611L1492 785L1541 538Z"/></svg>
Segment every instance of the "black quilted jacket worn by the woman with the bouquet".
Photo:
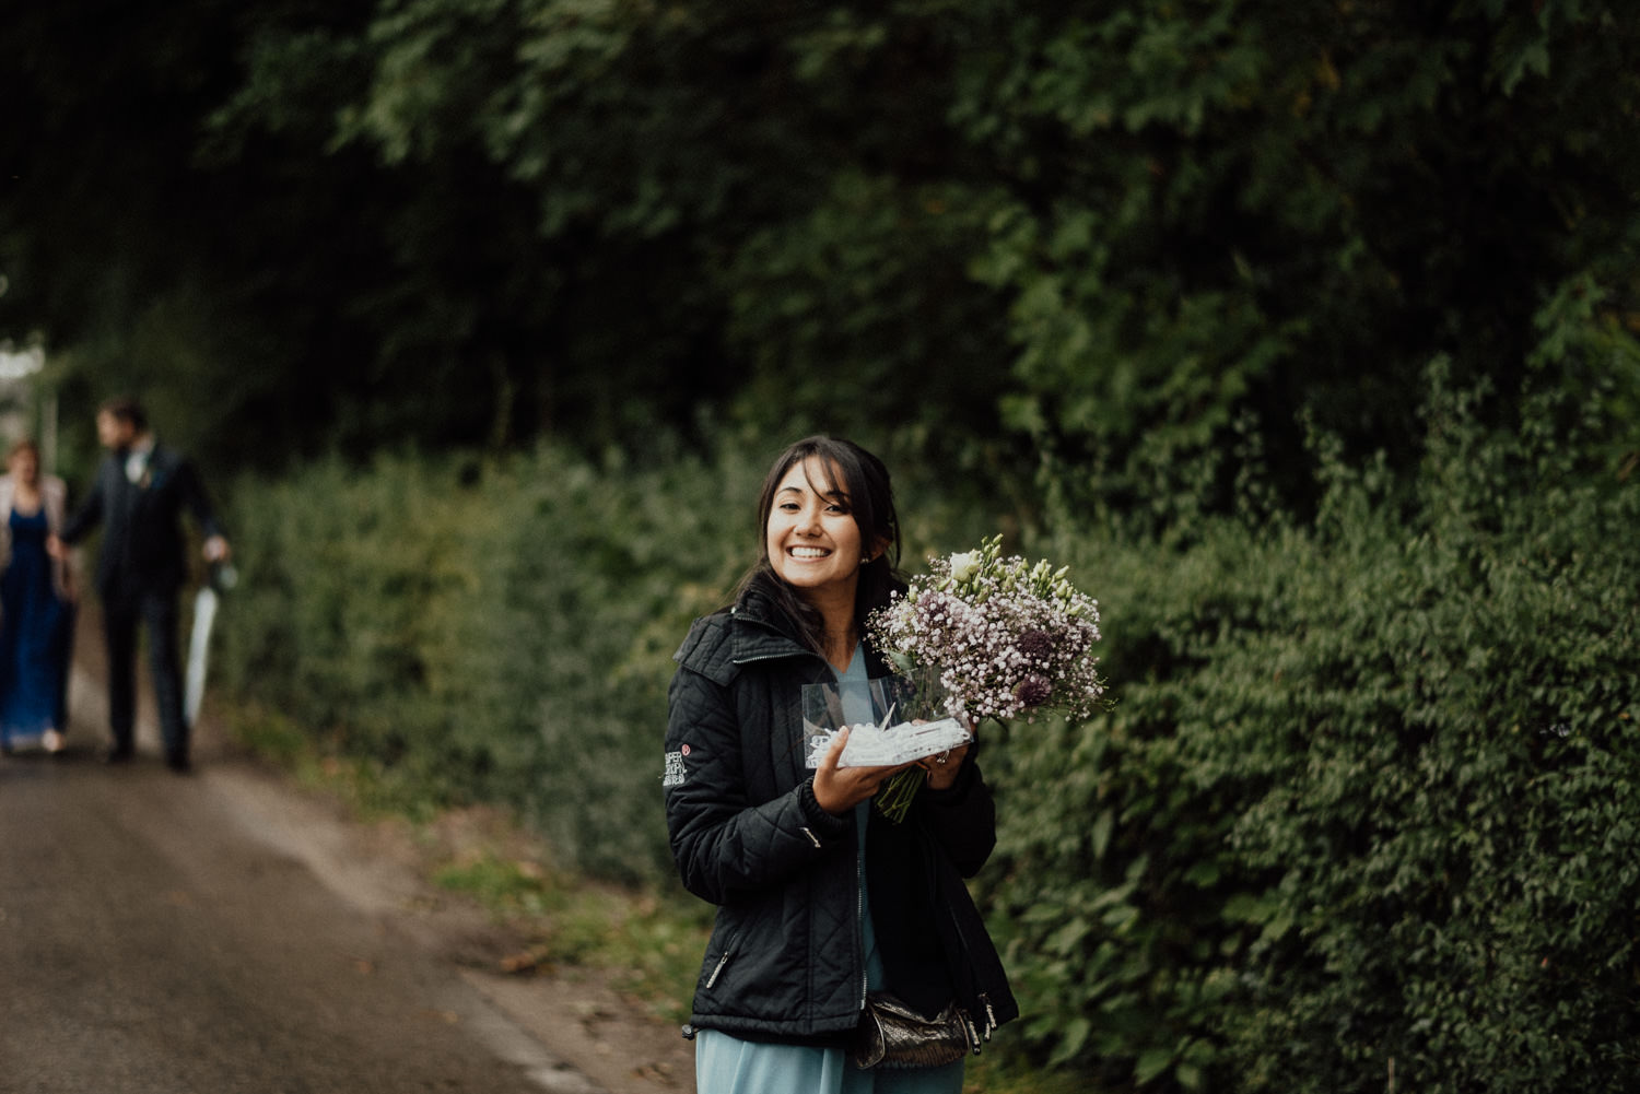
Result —
<svg viewBox="0 0 1640 1094"><path fill-rule="evenodd" d="M684 886L718 905L690 1022L751 1040L830 1043L866 996L854 820L804 766L802 684L833 681L756 587L695 620L674 654L666 820ZM871 676L882 676L881 661ZM1018 1015L963 886L995 843L977 766L923 789L904 823L874 817L866 876L889 986L932 1014L953 996L982 1035Z"/></svg>

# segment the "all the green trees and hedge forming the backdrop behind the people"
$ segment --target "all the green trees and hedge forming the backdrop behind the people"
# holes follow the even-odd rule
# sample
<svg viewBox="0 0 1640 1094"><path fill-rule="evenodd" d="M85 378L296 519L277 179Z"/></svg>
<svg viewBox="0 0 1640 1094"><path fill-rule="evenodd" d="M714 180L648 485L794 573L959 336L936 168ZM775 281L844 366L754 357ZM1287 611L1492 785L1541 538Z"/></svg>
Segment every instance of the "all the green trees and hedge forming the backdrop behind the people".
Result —
<svg viewBox="0 0 1640 1094"><path fill-rule="evenodd" d="M1640 16L1589 0L0 13L13 431L138 392L226 695L666 887L669 654L789 440L1105 612L979 896L1096 1091L1622 1091ZM28 358L41 361L41 358ZM216 702L226 699L216 697ZM682 986L687 991L687 984Z"/></svg>

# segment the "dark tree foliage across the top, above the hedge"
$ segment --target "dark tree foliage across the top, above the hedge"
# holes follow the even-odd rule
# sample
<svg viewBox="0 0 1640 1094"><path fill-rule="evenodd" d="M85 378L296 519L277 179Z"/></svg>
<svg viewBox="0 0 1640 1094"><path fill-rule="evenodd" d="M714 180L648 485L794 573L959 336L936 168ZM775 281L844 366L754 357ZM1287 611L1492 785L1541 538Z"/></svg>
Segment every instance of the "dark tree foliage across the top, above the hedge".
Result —
<svg viewBox="0 0 1640 1094"><path fill-rule="evenodd" d="M0 16L0 325L228 459L705 407L1159 526L1640 312L1610 3L80 7Z"/></svg>

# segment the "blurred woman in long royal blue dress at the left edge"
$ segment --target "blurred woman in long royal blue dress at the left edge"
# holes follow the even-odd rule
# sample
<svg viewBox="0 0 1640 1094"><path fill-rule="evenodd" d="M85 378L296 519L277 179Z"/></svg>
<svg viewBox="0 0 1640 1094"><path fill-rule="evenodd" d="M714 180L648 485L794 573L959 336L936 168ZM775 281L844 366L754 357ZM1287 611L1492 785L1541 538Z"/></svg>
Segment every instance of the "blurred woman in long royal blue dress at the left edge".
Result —
<svg viewBox="0 0 1640 1094"><path fill-rule="evenodd" d="M18 441L0 477L0 748L62 750L67 728L74 600L67 564L46 553L62 526L67 489L39 472L39 449Z"/></svg>

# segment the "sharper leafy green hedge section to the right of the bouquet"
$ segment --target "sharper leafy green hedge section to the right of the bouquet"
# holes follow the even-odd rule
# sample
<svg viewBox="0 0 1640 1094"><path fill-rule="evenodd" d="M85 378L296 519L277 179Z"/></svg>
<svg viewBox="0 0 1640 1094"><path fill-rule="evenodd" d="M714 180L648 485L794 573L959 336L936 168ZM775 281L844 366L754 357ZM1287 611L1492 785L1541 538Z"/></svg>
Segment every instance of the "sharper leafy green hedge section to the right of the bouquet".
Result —
<svg viewBox="0 0 1640 1094"><path fill-rule="evenodd" d="M1640 499L1471 402L1437 384L1410 499L1327 458L1314 528L1046 543L1118 704L989 754L1033 1053L1107 1089L1627 1087Z"/></svg>

